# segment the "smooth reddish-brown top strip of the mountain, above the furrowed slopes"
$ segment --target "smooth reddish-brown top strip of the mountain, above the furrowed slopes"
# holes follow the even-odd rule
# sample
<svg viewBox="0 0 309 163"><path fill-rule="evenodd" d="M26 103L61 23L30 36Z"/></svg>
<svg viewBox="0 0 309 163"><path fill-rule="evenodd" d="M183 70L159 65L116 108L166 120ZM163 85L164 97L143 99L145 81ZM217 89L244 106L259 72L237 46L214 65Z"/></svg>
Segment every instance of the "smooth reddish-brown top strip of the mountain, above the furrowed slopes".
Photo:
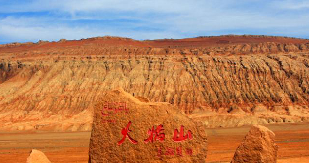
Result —
<svg viewBox="0 0 309 163"><path fill-rule="evenodd" d="M124 37L94 37L81 40L65 40L61 39L58 42L39 41L37 43L9 43L0 44L0 53L2 52L17 52L26 50L61 48L67 46L83 46L89 44L97 44L99 46L128 46L140 48L190 48L190 47L211 47L227 44L259 44L265 42L276 43L307 43L308 39L291 38L291 37L277 37L264 35L223 35L223 36L209 36L196 37L184 39L158 39L158 40L134 40Z"/></svg>

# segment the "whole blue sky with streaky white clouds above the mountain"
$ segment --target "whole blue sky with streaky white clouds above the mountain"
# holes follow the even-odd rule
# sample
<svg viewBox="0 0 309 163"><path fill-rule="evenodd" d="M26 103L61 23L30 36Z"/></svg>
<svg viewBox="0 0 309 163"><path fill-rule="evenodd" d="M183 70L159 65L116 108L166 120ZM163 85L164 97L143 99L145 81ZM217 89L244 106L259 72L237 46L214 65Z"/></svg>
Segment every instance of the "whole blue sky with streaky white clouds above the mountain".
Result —
<svg viewBox="0 0 309 163"><path fill-rule="evenodd" d="M0 0L0 44L225 34L309 38L309 0Z"/></svg>

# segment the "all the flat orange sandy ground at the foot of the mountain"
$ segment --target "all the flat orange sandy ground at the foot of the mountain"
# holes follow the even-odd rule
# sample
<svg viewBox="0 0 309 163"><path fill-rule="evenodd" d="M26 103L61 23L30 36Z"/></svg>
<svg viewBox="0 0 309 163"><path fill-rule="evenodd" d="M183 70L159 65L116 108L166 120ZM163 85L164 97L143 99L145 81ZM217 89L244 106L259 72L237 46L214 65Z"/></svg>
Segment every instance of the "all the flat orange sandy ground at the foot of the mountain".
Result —
<svg viewBox="0 0 309 163"><path fill-rule="evenodd" d="M278 163L309 163L309 123L275 124ZM228 163L249 126L207 129L207 163ZM0 163L25 163L31 149L43 151L53 163L87 163L90 132L0 132Z"/></svg>

